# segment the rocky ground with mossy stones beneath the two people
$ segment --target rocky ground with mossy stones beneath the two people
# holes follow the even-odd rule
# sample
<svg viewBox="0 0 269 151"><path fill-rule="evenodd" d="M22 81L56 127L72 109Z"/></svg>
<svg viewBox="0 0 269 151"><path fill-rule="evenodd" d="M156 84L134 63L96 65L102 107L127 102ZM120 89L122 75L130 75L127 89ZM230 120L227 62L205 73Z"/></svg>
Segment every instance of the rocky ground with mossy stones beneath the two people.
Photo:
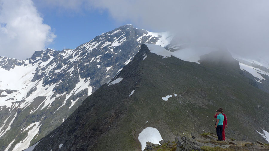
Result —
<svg viewBox="0 0 269 151"><path fill-rule="evenodd" d="M147 142L144 151L232 151L232 150L269 150L269 144L260 141L236 141L226 138L225 141L217 141L217 135L213 133L196 134L192 138L176 137L175 141L159 141L159 144Z"/></svg>

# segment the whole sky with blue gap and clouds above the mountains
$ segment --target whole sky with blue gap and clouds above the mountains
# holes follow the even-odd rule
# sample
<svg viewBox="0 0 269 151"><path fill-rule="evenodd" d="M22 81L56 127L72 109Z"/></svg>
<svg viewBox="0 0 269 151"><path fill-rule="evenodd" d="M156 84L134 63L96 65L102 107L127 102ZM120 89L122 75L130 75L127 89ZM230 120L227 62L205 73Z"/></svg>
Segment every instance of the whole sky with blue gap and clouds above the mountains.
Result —
<svg viewBox="0 0 269 151"><path fill-rule="evenodd" d="M25 59L49 46L75 48L131 23L269 58L268 8L267 0L0 0L0 56Z"/></svg>

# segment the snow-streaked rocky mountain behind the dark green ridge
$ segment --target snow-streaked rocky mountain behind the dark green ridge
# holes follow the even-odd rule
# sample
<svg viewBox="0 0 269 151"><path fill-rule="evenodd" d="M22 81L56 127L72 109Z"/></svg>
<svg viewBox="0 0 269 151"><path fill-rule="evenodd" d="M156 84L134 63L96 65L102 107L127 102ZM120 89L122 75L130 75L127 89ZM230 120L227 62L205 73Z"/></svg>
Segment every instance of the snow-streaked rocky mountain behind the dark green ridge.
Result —
<svg viewBox="0 0 269 151"><path fill-rule="evenodd" d="M88 95L118 74L134 58L140 44L155 43L164 36L124 25L74 50L48 48L36 51L23 61L0 57L2 71L6 74L16 71L19 75L14 83L8 83L13 87L0 79L0 102L4 102L0 104L0 127L6 119L3 130L11 124L9 131L2 131L0 150L5 150L13 140L9 150L22 150L40 140L58 127ZM10 123L15 113L16 118ZM34 137L30 133L34 133Z"/></svg>

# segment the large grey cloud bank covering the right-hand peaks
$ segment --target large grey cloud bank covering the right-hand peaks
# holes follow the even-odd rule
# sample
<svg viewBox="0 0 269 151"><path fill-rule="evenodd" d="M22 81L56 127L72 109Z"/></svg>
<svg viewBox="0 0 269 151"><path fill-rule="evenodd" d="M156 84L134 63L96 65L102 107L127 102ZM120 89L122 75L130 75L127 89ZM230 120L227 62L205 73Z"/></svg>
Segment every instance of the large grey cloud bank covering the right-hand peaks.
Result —
<svg viewBox="0 0 269 151"><path fill-rule="evenodd" d="M242 56L269 56L269 1L92 0L118 21L171 30L179 39L225 45ZM268 58L269 59L269 58Z"/></svg>

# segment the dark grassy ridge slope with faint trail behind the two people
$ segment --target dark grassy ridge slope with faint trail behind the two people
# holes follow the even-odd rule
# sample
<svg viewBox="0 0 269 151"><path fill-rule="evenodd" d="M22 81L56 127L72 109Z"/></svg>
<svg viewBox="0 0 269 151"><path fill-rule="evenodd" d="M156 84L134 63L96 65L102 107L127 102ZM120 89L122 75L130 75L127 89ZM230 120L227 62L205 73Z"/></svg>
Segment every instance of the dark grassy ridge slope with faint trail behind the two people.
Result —
<svg viewBox="0 0 269 151"><path fill-rule="evenodd" d="M141 45L117 76L86 98L62 125L42 138L35 150L141 150L138 138L146 127L158 129L164 140L181 134L176 139L179 150L200 150L201 145L227 148L223 145L229 142L215 143L212 133L200 138L202 142L194 134L215 132L213 115L219 107L229 119L227 137L262 140L256 130L267 130L269 123L257 119L268 116L264 110L269 107L269 95L248 80L237 70L220 70L173 56L162 58ZM167 95L172 97L164 101ZM257 104L263 106L257 108ZM247 125L239 127L240 119L248 121ZM188 138L191 132L197 138ZM59 144L63 144L61 148ZM177 143L169 145L173 144Z"/></svg>

